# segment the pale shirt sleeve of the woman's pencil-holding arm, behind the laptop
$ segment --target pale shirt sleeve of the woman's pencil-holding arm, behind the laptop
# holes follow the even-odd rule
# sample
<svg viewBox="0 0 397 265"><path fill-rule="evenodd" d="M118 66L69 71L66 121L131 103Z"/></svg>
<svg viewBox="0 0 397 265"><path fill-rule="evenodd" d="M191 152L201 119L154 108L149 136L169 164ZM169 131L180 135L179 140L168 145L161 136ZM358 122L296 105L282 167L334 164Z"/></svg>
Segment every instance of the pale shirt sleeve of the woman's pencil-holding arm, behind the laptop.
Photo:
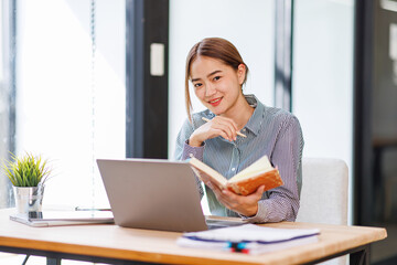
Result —
<svg viewBox="0 0 397 265"><path fill-rule="evenodd" d="M189 145L189 138L193 134L194 128L189 119L185 120L183 124L180 132L176 137L176 147L175 147L175 153L174 159L176 160L185 160L190 158L191 156L194 156L196 159L200 159L203 161L204 156L204 145L201 147L192 147ZM200 192L201 198L204 195L203 186L201 183L201 180L194 176L197 183L197 189Z"/></svg>

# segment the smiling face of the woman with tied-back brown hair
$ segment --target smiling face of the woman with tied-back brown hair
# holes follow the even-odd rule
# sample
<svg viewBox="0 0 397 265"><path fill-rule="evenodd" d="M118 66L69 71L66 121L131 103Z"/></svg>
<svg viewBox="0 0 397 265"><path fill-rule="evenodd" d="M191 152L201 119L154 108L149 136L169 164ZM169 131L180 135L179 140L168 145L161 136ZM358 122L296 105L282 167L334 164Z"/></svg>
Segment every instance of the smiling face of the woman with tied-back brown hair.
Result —
<svg viewBox="0 0 397 265"><path fill-rule="evenodd" d="M227 115L239 99L244 99L245 71L244 64L236 71L219 60L197 56L191 64L191 81L205 107L215 115Z"/></svg>

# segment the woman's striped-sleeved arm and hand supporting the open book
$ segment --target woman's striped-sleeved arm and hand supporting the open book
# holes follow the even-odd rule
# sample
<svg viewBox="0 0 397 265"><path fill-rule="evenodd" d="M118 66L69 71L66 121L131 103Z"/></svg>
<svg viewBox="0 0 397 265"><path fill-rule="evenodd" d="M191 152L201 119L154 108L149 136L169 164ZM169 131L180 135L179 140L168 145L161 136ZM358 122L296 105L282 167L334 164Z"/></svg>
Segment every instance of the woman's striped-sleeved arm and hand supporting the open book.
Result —
<svg viewBox="0 0 397 265"><path fill-rule="evenodd" d="M239 213L251 223L294 221L299 210L298 179L301 177L303 138L297 118L291 116L282 125L271 153L271 161L278 167L283 186L270 190L268 199L262 198L264 188L248 195L237 195L206 183L217 200L226 208Z"/></svg>

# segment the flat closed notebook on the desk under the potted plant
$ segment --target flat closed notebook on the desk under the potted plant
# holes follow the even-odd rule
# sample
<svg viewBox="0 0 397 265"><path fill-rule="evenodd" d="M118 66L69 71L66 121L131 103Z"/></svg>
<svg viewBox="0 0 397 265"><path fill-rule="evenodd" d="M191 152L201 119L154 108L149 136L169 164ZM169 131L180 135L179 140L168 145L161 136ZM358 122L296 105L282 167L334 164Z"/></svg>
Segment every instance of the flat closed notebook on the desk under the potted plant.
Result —
<svg viewBox="0 0 397 265"><path fill-rule="evenodd" d="M41 211L11 214L10 219L34 227L114 223L110 211Z"/></svg>

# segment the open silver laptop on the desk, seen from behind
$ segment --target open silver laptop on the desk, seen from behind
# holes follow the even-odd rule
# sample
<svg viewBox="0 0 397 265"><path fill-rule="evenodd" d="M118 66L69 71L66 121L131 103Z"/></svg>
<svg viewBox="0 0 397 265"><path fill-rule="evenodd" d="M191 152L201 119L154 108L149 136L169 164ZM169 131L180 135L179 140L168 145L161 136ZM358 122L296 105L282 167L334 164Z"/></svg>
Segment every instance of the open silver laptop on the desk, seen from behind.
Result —
<svg viewBox="0 0 397 265"><path fill-rule="evenodd" d="M161 159L97 159L115 223L125 227L207 230L191 167ZM211 227L243 224L212 221Z"/></svg>

